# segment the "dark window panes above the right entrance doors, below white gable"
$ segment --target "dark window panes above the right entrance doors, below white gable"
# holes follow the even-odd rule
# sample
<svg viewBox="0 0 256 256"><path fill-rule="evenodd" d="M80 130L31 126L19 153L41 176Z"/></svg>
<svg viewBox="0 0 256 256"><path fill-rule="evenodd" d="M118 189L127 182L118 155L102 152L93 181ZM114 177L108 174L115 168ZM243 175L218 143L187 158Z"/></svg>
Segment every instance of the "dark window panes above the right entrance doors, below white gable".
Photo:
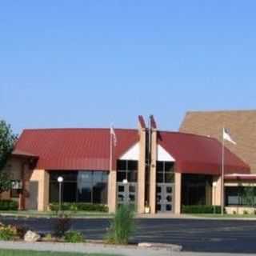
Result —
<svg viewBox="0 0 256 256"><path fill-rule="evenodd" d="M174 182L174 162L157 162L157 183Z"/></svg>

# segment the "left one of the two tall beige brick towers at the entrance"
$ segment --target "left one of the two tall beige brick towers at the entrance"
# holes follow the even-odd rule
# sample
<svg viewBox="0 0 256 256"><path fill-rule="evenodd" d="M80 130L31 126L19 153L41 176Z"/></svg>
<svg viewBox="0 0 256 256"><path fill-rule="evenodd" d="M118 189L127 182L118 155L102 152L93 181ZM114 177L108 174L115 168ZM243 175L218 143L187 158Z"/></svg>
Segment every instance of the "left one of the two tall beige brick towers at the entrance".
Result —
<svg viewBox="0 0 256 256"><path fill-rule="evenodd" d="M139 122L138 214L145 213L146 129Z"/></svg>

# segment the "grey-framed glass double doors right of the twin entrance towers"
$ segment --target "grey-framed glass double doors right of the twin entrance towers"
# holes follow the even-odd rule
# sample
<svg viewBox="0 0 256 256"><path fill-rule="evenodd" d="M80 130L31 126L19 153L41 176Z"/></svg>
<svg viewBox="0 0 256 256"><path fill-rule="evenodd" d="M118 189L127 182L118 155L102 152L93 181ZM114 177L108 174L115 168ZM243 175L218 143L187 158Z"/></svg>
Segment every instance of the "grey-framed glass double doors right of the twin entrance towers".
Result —
<svg viewBox="0 0 256 256"><path fill-rule="evenodd" d="M174 184L158 183L157 185L157 211L174 211Z"/></svg>

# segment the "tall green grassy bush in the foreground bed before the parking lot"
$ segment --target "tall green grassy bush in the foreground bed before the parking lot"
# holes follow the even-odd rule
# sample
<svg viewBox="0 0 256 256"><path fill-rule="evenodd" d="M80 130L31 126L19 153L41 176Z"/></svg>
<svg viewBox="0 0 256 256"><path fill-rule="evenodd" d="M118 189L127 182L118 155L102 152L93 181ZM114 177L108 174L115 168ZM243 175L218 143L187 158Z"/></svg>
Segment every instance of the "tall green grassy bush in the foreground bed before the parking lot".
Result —
<svg viewBox="0 0 256 256"><path fill-rule="evenodd" d="M134 210L130 206L120 206L110 224L107 240L114 244L127 244L134 233Z"/></svg>

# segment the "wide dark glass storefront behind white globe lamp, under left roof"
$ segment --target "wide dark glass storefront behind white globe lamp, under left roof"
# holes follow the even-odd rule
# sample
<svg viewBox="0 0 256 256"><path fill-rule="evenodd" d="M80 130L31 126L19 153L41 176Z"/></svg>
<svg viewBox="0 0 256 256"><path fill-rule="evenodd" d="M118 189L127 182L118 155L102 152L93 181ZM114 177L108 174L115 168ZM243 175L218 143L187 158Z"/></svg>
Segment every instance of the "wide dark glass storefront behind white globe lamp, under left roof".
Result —
<svg viewBox="0 0 256 256"><path fill-rule="evenodd" d="M107 204L106 171L52 171L50 172L50 202L58 202L58 177L63 177L63 202Z"/></svg>

